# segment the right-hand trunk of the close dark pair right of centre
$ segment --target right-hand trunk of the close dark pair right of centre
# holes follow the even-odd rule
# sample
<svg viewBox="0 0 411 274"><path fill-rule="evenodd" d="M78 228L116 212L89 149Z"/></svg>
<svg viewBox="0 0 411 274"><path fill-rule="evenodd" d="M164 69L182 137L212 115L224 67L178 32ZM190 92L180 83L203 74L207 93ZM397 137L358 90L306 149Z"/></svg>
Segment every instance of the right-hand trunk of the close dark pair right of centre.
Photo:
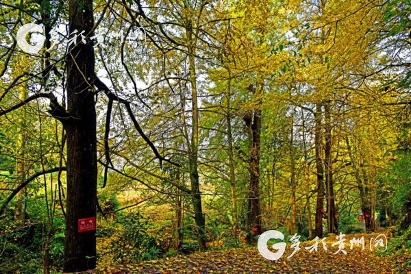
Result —
<svg viewBox="0 0 411 274"><path fill-rule="evenodd" d="M335 197L334 197L334 181L332 170L332 125L331 125L331 110L329 101L324 104L325 114L325 184L327 186L327 223L328 233L336 233L338 231L338 223L336 219Z"/></svg>

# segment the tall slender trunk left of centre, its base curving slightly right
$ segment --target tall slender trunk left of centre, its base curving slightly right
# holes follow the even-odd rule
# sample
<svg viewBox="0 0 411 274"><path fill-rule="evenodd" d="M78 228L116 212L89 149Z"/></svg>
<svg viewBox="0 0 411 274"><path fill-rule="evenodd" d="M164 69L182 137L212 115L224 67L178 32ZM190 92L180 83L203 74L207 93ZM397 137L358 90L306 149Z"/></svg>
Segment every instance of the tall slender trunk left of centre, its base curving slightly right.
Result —
<svg viewBox="0 0 411 274"><path fill-rule="evenodd" d="M201 193L199 184L198 171L198 145L199 145L199 108L197 103L197 79L195 70L195 41L192 37L191 29L187 30L188 42L188 66L190 69L190 86L191 86L191 107L192 107L192 127L191 127L191 149L189 157L190 165L190 182L191 182L191 199L194 208L194 219L197 225L199 249L206 249L206 220L201 207Z"/></svg>

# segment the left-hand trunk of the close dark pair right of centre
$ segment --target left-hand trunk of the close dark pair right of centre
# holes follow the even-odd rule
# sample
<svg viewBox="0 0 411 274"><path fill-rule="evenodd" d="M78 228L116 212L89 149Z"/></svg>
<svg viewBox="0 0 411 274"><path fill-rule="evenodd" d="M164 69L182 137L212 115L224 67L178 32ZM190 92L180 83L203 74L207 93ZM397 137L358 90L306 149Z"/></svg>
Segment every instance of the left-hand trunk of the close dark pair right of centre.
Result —
<svg viewBox="0 0 411 274"><path fill-rule="evenodd" d="M317 199L315 211L315 232L316 236L323 238L323 215L324 215L324 171L323 160L321 158L321 149L323 148L323 137L321 134L322 120L322 105L317 104L315 110L315 129L314 129L314 146L315 146L315 162L316 162L316 177L317 177Z"/></svg>

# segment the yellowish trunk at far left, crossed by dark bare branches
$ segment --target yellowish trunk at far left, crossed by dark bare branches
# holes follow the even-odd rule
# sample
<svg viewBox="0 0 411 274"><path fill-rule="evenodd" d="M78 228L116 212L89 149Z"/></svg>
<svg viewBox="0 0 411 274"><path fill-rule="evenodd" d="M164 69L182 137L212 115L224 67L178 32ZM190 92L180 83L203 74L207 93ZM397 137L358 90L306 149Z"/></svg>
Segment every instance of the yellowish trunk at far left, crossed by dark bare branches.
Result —
<svg viewBox="0 0 411 274"><path fill-rule="evenodd" d="M27 97L27 90L23 87L20 88L18 99L24 101ZM24 111L24 110L23 110ZM25 179L25 136L23 134L25 130L25 116L19 115L17 121L17 144L16 144L16 175L18 182L23 182ZM14 212L14 219L16 221L24 221L25 219L25 194L27 188L23 188L16 195L16 212Z"/></svg>

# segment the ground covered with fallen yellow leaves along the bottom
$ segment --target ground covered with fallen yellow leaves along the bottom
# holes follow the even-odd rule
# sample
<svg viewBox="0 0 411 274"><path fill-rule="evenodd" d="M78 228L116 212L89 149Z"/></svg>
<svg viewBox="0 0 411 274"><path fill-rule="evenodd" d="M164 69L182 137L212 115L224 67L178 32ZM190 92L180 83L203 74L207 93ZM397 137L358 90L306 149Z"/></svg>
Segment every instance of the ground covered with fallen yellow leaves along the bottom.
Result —
<svg viewBox="0 0 411 274"><path fill-rule="evenodd" d="M113 266L101 269L96 273L411 273L411 269L405 269L404 264L411 260L410 252L401 254L400 257L377 254L378 251L370 240L377 238L379 234L350 234L345 236L345 248L347 254L338 251L339 244L336 236L325 240L327 251L319 243L318 251L312 251L310 247L314 241L301 242L294 256L290 256L292 244L287 242L286 252L277 261L263 258L256 247L237 248L227 250L215 250L204 253L193 253L186 256L176 256L142 262L141 264L127 264L125 266ZM349 240L364 236L365 246L353 246ZM389 245L388 238L388 245ZM340 246L341 247L341 246ZM380 249L384 249L381 248ZM334 254L336 253L336 254ZM409 261L408 261L409 262Z"/></svg>

